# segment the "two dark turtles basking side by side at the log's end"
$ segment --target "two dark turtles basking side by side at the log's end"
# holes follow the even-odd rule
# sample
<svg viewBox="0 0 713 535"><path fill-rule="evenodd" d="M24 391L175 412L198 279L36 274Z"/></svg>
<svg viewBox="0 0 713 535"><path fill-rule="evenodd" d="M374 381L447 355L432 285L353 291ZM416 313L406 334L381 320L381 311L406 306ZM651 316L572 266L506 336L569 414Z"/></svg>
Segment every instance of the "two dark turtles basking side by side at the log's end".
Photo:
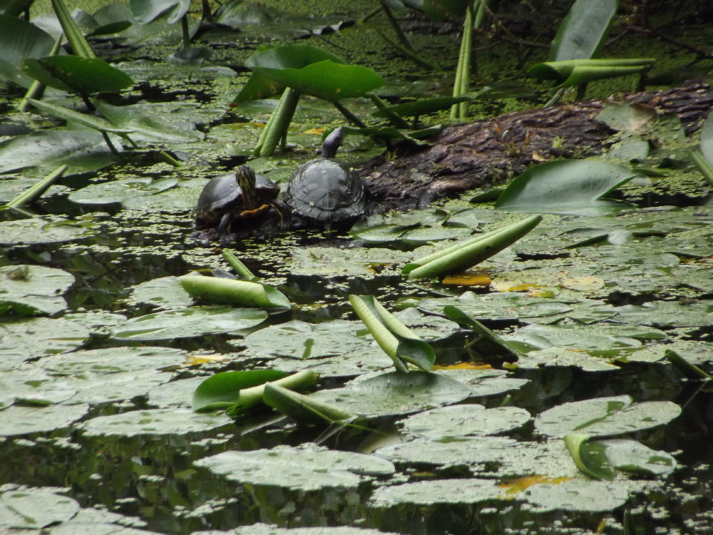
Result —
<svg viewBox="0 0 713 535"><path fill-rule="evenodd" d="M334 156L342 146L342 127L335 129L322 144L322 157L303 163L289 179L282 204L297 225L317 224L328 228L364 215L366 187L361 177ZM198 228L217 225L225 235L233 220L249 219L275 207L282 210L277 194L279 186L264 175L241 165L234 173L210 180L205 185L194 214Z"/></svg>

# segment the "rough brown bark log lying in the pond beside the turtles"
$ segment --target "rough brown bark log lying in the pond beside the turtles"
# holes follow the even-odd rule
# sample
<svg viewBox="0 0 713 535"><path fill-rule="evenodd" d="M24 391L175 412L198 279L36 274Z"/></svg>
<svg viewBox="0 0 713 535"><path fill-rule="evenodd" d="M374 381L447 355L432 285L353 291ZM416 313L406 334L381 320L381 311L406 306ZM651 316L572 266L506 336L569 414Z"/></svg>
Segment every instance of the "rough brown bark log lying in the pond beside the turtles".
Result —
<svg viewBox="0 0 713 535"><path fill-rule="evenodd" d="M674 113L687 136L713 108L713 88L699 81L665 91L613 98ZM384 209L414 208L465 190L502 183L535 163L602 153L615 131L595 116L607 101L536 108L486 121L448 126L427 148L394 159L376 158L361 168L375 200Z"/></svg>

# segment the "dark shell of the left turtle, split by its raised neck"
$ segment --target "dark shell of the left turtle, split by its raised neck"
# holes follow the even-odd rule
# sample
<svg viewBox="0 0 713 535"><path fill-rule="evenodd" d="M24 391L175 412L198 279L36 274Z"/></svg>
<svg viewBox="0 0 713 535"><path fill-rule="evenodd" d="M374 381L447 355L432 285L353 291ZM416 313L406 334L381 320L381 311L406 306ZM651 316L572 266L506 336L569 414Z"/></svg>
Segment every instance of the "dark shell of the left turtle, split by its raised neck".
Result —
<svg viewBox="0 0 713 535"><path fill-rule="evenodd" d="M277 198L279 186L265 175L255 175L255 199L258 205ZM237 172L212 178L200 192L193 215L199 227L207 228L220 223L227 211L234 210L237 217L246 209ZM254 207L257 208L257 207Z"/></svg>

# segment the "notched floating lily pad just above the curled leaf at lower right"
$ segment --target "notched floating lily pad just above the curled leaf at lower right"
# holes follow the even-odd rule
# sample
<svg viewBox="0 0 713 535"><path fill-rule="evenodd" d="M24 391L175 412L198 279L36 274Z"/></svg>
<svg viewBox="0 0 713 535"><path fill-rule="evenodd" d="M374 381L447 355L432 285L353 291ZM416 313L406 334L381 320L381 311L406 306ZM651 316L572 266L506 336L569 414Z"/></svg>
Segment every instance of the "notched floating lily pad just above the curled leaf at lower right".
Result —
<svg viewBox="0 0 713 535"><path fill-rule="evenodd" d="M554 437L573 432L605 437L664 425L679 414L681 407L673 402L633 403L630 396L598 397L564 403L538 414L535 429Z"/></svg>

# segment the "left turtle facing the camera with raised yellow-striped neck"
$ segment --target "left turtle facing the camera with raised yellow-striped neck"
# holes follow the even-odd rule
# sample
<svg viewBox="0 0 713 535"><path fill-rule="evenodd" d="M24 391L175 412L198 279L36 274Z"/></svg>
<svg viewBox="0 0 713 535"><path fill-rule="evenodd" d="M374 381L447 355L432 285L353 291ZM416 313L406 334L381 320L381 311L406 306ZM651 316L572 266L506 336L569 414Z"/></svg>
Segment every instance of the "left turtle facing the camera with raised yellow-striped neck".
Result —
<svg viewBox="0 0 713 535"><path fill-rule="evenodd" d="M253 218L264 213L277 198L279 186L265 175L255 175L247 165L232 173L212 178L198 197L193 215L197 228L217 225L218 235L230 229L236 218Z"/></svg>

